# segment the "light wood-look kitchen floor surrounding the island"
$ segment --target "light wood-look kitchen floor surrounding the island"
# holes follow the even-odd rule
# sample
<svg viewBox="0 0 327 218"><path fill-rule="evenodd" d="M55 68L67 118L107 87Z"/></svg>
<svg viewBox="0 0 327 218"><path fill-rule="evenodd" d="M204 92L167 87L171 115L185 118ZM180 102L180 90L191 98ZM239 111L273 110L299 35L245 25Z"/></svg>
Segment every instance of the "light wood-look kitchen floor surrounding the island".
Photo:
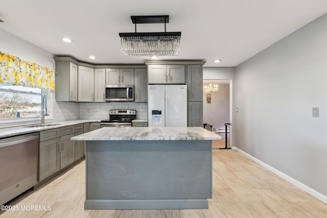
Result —
<svg viewBox="0 0 327 218"><path fill-rule="evenodd" d="M237 151L213 151L213 199L201 210L84 210L85 161L11 205L0 217L327 217L327 205Z"/></svg>

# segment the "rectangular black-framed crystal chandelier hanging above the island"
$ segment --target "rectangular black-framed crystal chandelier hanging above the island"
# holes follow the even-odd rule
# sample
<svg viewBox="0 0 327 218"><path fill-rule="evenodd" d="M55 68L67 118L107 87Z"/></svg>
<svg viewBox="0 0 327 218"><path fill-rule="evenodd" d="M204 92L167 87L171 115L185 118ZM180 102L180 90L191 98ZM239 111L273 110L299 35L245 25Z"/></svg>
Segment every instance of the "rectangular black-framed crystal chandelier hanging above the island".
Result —
<svg viewBox="0 0 327 218"><path fill-rule="evenodd" d="M131 16L135 33L119 33L121 51L125 56L179 55L181 32L166 32L169 15ZM136 33L136 23L165 23L165 32Z"/></svg>

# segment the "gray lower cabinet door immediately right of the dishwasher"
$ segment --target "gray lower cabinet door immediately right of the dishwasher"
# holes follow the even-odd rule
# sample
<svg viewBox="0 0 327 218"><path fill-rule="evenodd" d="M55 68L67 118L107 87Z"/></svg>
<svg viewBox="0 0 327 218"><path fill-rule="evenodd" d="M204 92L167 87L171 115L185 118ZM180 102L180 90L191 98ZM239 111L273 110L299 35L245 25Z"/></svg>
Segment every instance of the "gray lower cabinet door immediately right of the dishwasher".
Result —
<svg viewBox="0 0 327 218"><path fill-rule="evenodd" d="M42 135L42 132L40 135ZM41 181L60 169L60 137L42 141L39 146L38 181Z"/></svg>

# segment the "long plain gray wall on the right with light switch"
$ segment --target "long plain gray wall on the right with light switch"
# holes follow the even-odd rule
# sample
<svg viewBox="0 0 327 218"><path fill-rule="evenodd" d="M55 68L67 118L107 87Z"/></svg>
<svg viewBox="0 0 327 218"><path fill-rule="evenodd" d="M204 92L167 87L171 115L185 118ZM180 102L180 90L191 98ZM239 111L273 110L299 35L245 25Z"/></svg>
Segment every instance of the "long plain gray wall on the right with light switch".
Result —
<svg viewBox="0 0 327 218"><path fill-rule="evenodd" d="M236 68L236 147L324 196L326 27L327 14Z"/></svg>

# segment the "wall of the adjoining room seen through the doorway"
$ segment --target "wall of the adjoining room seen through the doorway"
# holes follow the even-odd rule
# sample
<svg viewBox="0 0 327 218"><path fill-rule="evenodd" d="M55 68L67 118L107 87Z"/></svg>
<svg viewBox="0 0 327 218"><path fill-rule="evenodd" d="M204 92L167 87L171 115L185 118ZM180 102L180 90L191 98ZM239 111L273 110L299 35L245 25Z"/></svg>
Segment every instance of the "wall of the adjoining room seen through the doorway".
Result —
<svg viewBox="0 0 327 218"><path fill-rule="evenodd" d="M219 80L211 80L213 84L219 84ZM209 81L203 81L203 85ZM225 132L225 123L229 123L229 84L219 84L219 91L211 94L211 104L206 102L206 94L203 92L203 123L213 125L216 132Z"/></svg>

